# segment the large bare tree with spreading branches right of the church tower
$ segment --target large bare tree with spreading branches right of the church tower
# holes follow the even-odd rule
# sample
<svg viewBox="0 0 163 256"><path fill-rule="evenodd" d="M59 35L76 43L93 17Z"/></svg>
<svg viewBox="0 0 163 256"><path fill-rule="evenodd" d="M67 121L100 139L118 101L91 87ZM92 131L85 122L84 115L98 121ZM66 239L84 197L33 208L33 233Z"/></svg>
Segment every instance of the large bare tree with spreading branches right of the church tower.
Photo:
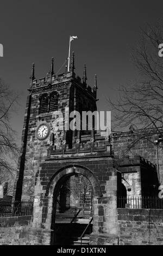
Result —
<svg viewBox="0 0 163 256"><path fill-rule="evenodd" d="M163 132L163 58L159 57L159 45L163 43L163 23L146 23L140 29L136 48L131 48L131 62L137 77L122 85L116 92L116 100L108 97L112 114L112 131L130 129L136 140L151 131L162 137ZM154 143L154 142L152 142ZM130 144L128 151L132 145ZM124 150L125 151L125 150ZM123 155L126 153L123 153Z"/></svg>

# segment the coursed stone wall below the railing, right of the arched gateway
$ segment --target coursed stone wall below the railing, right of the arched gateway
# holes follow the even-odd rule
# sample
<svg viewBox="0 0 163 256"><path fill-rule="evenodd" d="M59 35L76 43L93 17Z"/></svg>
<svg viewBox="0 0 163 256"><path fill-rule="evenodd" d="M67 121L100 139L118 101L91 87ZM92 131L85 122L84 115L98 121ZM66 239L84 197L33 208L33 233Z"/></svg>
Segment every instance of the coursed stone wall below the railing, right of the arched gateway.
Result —
<svg viewBox="0 0 163 256"><path fill-rule="evenodd" d="M119 245L162 245L162 209L117 209Z"/></svg>

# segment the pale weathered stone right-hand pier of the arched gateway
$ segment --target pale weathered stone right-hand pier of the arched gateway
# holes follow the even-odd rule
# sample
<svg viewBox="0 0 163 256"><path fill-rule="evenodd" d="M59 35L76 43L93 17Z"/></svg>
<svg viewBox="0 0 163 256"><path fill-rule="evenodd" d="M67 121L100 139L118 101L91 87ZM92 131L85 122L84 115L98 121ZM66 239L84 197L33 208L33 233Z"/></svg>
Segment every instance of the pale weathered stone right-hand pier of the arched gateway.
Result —
<svg viewBox="0 0 163 256"><path fill-rule="evenodd" d="M112 168L105 182L105 194L94 198L93 230L90 245L118 245L117 171Z"/></svg>

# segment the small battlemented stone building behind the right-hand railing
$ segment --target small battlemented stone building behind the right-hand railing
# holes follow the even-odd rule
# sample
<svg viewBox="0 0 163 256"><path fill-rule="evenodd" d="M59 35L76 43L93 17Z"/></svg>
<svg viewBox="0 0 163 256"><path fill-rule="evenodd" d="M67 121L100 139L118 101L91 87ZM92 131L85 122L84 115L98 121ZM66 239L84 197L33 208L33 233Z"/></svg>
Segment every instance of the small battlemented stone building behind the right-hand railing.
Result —
<svg viewBox="0 0 163 256"><path fill-rule="evenodd" d="M122 184L126 187L127 196L158 196L158 175L151 162L141 156L128 156L121 161L118 170L122 173Z"/></svg>

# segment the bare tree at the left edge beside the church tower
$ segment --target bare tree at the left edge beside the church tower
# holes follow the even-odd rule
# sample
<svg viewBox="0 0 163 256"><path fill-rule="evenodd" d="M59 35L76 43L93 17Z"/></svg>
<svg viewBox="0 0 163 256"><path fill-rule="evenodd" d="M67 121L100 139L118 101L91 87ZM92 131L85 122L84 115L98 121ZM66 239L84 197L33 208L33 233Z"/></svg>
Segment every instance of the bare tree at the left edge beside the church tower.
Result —
<svg viewBox="0 0 163 256"><path fill-rule="evenodd" d="M16 132L10 125L12 113L16 111L19 99L0 78L0 182L9 181L15 176L16 161L20 154Z"/></svg>

